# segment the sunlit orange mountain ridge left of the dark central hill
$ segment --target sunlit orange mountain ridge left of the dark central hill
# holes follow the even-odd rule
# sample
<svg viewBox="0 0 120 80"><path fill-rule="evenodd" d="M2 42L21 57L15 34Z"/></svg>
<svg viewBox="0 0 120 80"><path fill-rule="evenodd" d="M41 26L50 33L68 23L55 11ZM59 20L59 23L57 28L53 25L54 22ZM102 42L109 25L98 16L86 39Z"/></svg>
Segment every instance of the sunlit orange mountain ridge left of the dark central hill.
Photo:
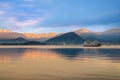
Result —
<svg viewBox="0 0 120 80"><path fill-rule="evenodd" d="M17 38L17 37L23 37L26 39L41 39L41 38L55 37L56 35L57 34L54 32L35 34L35 33L17 33L17 32L12 32L11 30L0 29L0 38L1 39L13 39L13 38Z"/></svg>

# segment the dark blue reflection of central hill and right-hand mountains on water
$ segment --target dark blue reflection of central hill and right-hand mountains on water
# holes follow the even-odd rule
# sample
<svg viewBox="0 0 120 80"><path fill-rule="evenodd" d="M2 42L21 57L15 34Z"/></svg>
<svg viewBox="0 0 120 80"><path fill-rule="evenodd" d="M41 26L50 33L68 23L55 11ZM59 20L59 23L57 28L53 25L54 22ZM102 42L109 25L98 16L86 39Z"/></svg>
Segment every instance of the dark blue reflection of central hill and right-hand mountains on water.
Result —
<svg viewBox="0 0 120 80"><path fill-rule="evenodd" d="M117 62L120 60L120 49L55 49L53 51L68 60L87 58L116 60Z"/></svg>

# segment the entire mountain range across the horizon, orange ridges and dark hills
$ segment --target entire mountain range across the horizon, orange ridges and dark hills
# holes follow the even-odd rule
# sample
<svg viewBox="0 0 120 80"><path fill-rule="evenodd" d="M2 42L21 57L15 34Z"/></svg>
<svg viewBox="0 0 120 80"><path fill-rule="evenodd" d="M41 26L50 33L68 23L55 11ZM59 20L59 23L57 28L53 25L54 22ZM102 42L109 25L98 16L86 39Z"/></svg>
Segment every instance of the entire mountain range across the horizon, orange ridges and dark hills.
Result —
<svg viewBox="0 0 120 80"><path fill-rule="evenodd" d="M99 41L102 43L120 44L120 28L104 32L92 32L82 28L68 33L17 33L10 30L0 30L0 44L24 43L29 44L83 44L84 41ZM42 43L41 43L42 42Z"/></svg>

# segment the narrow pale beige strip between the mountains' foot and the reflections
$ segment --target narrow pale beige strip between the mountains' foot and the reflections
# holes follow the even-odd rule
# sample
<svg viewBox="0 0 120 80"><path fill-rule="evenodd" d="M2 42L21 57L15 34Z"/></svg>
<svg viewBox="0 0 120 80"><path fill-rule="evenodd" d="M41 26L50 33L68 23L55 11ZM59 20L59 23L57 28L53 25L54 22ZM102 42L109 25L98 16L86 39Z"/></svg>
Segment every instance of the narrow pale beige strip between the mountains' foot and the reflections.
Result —
<svg viewBox="0 0 120 80"><path fill-rule="evenodd" d="M120 49L120 45L103 45L100 47L84 47L82 45L0 45L3 48L38 48L38 49Z"/></svg>

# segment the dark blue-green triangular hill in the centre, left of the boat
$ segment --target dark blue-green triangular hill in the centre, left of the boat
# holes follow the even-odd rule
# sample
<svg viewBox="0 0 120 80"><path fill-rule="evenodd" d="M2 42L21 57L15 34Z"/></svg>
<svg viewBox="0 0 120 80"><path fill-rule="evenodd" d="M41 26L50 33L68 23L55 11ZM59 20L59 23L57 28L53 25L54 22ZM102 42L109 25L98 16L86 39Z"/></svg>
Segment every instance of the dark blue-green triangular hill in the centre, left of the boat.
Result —
<svg viewBox="0 0 120 80"><path fill-rule="evenodd" d="M74 32L62 34L45 41L46 44L82 44L84 39Z"/></svg>

